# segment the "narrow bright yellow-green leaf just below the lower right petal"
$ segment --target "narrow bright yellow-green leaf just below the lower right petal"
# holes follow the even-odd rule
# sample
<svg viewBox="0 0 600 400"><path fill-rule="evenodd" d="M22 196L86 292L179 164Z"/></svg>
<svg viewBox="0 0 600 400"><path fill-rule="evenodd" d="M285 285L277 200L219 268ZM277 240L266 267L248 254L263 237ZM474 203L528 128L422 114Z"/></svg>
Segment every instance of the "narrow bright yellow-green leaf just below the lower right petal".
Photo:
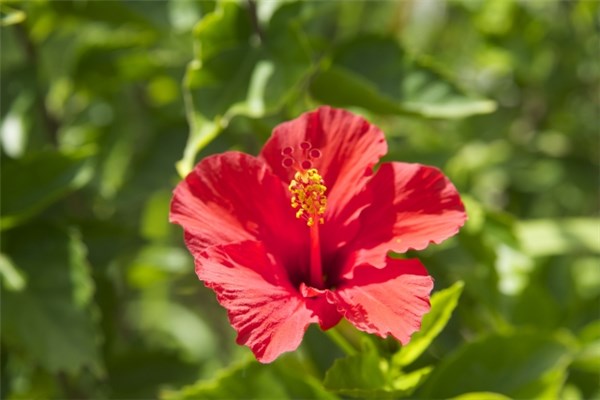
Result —
<svg viewBox="0 0 600 400"><path fill-rule="evenodd" d="M433 340L442 332L458 304L464 283L456 282L451 287L431 296L431 311L423 316L421 330L416 332L410 342L402 347L392 358L392 363L405 366L415 361Z"/></svg>

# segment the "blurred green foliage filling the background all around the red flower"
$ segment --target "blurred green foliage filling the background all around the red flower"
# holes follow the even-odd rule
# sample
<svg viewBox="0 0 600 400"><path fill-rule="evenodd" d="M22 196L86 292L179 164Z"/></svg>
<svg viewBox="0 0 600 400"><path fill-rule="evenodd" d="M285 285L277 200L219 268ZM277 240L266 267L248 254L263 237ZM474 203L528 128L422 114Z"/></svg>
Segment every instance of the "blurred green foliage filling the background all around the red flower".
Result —
<svg viewBox="0 0 600 400"><path fill-rule="evenodd" d="M7 0L0 17L2 398L600 397L597 2ZM469 221L409 254L439 290L411 344L342 324L344 357L311 328L259 365L168 224L171 190L323 103L379 125L386 160L442 168Z"/></svg>

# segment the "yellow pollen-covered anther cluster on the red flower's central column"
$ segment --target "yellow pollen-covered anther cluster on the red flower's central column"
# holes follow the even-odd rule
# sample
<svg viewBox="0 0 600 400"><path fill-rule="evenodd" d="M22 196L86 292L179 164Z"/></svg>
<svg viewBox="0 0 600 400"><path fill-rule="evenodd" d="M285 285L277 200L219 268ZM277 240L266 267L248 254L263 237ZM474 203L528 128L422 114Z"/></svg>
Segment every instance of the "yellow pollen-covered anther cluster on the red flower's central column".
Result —
<svg viewBox="0 0 600 400"><path fill-rule="evenodd" d="M324 223L327 187L316 168L296 172L288 189L292 193L291 206L298 209L296 218L304 218L308 226Z"/></svg>

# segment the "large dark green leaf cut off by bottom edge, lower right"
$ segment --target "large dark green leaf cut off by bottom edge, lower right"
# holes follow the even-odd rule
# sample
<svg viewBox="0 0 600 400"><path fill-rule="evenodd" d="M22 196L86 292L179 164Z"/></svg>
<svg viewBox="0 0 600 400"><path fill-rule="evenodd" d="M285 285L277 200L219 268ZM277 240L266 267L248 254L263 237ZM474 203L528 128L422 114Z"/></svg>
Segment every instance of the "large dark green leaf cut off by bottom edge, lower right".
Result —
<svg viewBox="0 0 600 400"><path fill-rule="evenodd" d="M444 358L420 395L448 398L491 391L513 398L558 398L572 357L568 338L527 331L493 334Z"/></svg>

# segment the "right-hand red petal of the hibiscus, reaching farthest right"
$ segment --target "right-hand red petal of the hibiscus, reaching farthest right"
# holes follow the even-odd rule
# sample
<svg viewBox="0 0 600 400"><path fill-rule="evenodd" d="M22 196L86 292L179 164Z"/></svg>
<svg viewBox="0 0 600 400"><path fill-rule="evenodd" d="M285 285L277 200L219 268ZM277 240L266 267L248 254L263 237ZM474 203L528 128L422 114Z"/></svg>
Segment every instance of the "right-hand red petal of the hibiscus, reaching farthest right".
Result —
<svg viewBox="0 0 600 400"><path fill-rule="evenodd" d="M369 189L372 203L361 214L360 235L348 246L352 265L382 266L388 251L439 244L467 219L456 188L434 167L384 163Z"/></svg>

